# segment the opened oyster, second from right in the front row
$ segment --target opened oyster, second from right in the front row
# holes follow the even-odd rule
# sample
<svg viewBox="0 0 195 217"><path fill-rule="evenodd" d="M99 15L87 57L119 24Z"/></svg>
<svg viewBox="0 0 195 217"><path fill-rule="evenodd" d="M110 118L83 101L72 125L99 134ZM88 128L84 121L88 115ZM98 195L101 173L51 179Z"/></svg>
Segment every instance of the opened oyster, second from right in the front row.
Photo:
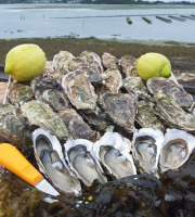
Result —
<svg viewBox="0 0 195 217"><path fill-rule="evenodd" d="M164 133L158 129L142 128L134 132L132 154L136 168L142 173L156 174Z"/></svg>

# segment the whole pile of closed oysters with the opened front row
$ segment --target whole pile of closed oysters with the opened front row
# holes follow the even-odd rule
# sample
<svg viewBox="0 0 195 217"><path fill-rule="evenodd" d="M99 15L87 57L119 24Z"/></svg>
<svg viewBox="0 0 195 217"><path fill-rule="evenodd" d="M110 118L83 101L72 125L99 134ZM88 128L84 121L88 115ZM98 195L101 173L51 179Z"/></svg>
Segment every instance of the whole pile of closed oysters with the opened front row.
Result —
<svg viewBox="0 0 195 217"><path fill-rule="evenodd" d="M159 177L195 149L192 95L172 78L143 82L130 55L61 51L30 84L13 81L8 97L1 142L32 144L40 171L65 194L94 180Z"/></svg>

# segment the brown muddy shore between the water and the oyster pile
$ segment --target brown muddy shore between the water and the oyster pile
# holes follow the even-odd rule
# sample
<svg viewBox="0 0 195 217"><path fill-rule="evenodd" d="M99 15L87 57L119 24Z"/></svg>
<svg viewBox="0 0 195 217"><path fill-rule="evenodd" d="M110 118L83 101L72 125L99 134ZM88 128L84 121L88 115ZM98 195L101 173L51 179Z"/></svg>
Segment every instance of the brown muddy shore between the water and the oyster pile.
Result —
<svg viewBox="0 0 195 217"><path fill-rule="evenodd" d="M120 59L122 55L139 58L146 52L158 52L166 55L174 73L195 74L195 43L174 41L119 41L115 39L102 40L95 38L28 38L28 39L0 39L0 65L4 65L6 53L21 43L36 43L46 52L48 61L61 50L79 55L84 50L98 53L109 52Z"/></svg>

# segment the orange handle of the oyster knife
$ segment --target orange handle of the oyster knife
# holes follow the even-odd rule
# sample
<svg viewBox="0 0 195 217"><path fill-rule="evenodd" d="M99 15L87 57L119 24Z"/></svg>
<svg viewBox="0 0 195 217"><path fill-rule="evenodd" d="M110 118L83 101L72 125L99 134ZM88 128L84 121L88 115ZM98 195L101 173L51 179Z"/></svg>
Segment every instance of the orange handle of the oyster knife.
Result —
<svg viewBox="0 0 195 217"><path fill-rule="evenodd" d="M26 182L36 186L43 177L12 144L0 144L0 164Z"/></svg>

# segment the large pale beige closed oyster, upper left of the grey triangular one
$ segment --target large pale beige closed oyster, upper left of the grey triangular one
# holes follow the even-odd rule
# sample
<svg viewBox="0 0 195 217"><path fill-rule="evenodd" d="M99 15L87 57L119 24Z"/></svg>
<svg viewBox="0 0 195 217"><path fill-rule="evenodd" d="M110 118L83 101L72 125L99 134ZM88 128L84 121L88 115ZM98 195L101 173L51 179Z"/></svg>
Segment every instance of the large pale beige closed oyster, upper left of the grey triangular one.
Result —
<svg viewBox="0 0 195 217"><path fill-rule="evenodd" d="M98 95L83 73L75 72L65 75L62 79L62 87L72 104L78 110L95 110Z"/></svg>

